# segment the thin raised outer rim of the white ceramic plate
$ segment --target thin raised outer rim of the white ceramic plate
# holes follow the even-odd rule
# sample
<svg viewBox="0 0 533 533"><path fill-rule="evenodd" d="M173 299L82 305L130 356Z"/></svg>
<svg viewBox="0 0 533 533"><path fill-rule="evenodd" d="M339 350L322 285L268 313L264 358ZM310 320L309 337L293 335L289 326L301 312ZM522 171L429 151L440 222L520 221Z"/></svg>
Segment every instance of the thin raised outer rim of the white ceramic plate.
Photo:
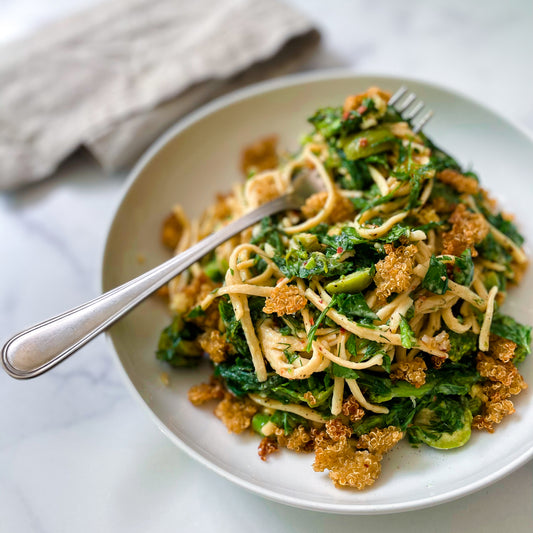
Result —
<svg viewBox="0 0 533 533"><path fill-rule="evenodd" d="M301 85L305 83L312 83L324 80L332 79L341 79L341 78L384 78L391 82L398 83L398 86L410 82L426 85L430 88L437 89L440 91L445 91L449 94L467 100L469 103L474 104L484 111L495 115L498 119L512 126L514 129L522 133L532 144L533 146L533 133L527 130L521 124L518 124L513 119L506 117L499 110L493 109L491 106L478 102L473 97L468 94L463 93L460 90L451 88L447 85L437 83L434 81L429 81L421 77L413 76L400 76L396 74L383 74L379 72L357 72L354 69L350 68L340 68L340 69L327 69L327 70L315 70L310 72L300 72L287 76L282 76L279 78L274 78L259 83L255 83L236 91L232 91L228 94L222 95L214 100L202 105L198 109L188 113L181 119L179 119L175 124L167 128L159 137L144 151L144 153L139 157L136 164L129 171L128 177L122 185L121 192L119 194L115 208L113 209L110 217L110 222L107 226L106 237L103 244L103 249L101 253L100 261L100 291L104 292L105 285L105 267L106 267L106 258L108 256L108 250L111 247L110 235L114 224L116 222L116 217L119 209L121 208L127 194L129 193L131 187L135 183L137 177L142 172L142 170L147 166L147 164L152 160L152 158L176 135L180 134L196 122L202 120L203 118L223 109L227 106L235 104L237 102L253 98L257 95L268 93L274 90L283 89L286 87L293 87L296 85ZM499 481L503 477L511 474L528 461L533 458L533 445L526 450L522 455L515 458L509 464L502 466L495 472L481 477L477 481L473 481L463 487L457 488L455 490L449 491L447 493L428 496L423 498L418 498L409 502L401 503L390 503L390 504L368 504L368 503L354 503L354 504L335 504L335 503L310 503L304 498L288 496L288 495L279 495L271 489L267 489L257 484L251 483L239 477L236 474L216 465L211 462L209 459L201 455L199 452L190 448L185 442L183 442L167 425L157 416L157 414L152 410L152 408L145 402L141 396L139 390L135 387L133 382L130 380L118 354L113 339L109 331L105 332L106 345L108 350L112 354L112 359L115 363L116 368L119 370L119 374L124 381L126 388L130 391L133 397L144 407L145 412L148 412L149 417L159 428L159 430L171 440L176 446L181 450L187 453L191 458L198 461L200 464L206 466L211 471L216 472L225 479L235 483L236 485L254 493L262 496L268 500L275 501L277 503L286 504L292 507L297 507L300 509L307 509L312 511L321 511L334 514L351 514L351 515L374 515L374 514L390 514L398 512L407 512L413 511L416 509L423 509L427 507L432 507L435 505L443 504L467 496L473 492L481 490L484 487L487 487L496 481Z"/></svg>

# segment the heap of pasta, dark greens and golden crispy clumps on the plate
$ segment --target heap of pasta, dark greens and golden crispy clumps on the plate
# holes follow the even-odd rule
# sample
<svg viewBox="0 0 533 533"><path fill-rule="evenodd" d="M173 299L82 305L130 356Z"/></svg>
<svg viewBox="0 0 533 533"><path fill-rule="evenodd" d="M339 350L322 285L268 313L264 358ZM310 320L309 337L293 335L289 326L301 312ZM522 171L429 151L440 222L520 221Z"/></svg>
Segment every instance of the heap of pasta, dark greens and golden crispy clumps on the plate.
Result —
<svg viewBox="0 0 533 533"><path fill-rule="evenodd" d="M174 322L158 357L192 366L206 352L199 405L266 456L315 450L315 470L364 488L402 437L462 446L493 431L525 383L515 363L530 328L502 315L527 259L511 218L473 173L387 106L377 88L319 110L283 162L272 138L248 148L248 177L198 221L176 207L164 241L177 253L314 173L323 192L301 211L242 232L175 278ZM265 163L266 162L266 163ZM266 168L264 168L266 167Z"/></svg>

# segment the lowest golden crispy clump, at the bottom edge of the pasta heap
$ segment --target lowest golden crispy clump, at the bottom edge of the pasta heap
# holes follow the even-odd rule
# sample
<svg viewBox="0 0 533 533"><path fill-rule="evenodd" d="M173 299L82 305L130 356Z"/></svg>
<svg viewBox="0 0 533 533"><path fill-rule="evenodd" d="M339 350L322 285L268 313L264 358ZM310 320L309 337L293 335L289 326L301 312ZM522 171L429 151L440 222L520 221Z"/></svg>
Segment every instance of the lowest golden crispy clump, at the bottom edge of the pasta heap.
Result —
<svg viewBox="0 0 533 533"><path fill-rule="evenodd" d="M345 440L315 449L315 472L329 470L337 487L362 490L372 485L381 472L379 457L368 451L356 451Z"/></svg>

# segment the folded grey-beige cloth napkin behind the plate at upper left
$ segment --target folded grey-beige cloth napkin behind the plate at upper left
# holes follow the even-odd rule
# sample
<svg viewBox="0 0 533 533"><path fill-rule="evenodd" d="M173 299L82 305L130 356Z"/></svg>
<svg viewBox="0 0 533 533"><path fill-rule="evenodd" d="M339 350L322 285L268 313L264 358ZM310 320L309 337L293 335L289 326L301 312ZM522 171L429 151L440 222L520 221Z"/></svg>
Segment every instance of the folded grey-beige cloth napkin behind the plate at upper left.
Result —
<svg viewBox="0 0 533 533"><path fill-rule="evenodd" d="M178 118L295 69L319 41L278 0L114 0L0 49L0 189L78 147L131 164Z"/></svg>

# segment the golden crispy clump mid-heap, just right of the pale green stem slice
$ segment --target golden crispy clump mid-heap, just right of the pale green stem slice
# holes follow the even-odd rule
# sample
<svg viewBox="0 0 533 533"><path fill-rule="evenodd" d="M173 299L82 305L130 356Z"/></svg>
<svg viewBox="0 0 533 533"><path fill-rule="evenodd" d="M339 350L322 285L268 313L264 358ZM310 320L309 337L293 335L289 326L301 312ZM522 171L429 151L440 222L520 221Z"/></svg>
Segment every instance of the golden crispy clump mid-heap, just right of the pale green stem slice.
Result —
<svg viewBox="0 0 533 533"><path fill-rule="evenodd" d="M387 256L376 264L376 296L386 300L394 292L404 292L409 288L413 277L415 254L417 248L414 244L398 246L385 244Z"/></svg>

